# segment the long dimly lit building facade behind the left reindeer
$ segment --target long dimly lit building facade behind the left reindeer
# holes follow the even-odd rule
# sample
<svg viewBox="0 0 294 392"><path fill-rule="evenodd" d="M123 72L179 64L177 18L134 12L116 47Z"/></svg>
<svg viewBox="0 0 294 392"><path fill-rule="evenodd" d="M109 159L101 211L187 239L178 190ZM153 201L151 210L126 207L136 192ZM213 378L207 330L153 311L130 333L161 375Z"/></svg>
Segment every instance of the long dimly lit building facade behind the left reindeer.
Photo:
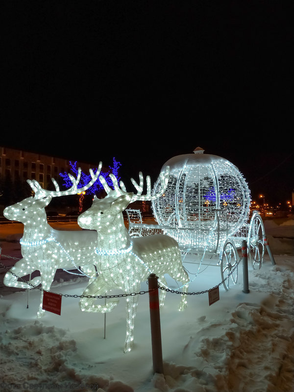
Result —
<svg viewBox="0 0 294 392"><path fill-rule="evenodd" d="M98 167L83 162L77 162L77 166L84 173L89 173L90 169ZM51 178L57 180L60 172L70 172L70 162L66 159L0 147L0 179L5 179L7 176L10 176L12 182L34 179L42 188L47 189Z"/></svg>

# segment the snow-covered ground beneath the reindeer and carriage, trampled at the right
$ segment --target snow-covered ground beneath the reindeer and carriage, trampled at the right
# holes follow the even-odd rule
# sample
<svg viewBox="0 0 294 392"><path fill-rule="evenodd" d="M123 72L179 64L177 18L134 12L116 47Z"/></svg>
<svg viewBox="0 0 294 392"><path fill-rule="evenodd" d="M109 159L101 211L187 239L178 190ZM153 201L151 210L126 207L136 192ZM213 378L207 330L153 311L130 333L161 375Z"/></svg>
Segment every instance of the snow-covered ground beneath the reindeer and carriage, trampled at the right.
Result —
<svg viewBox="0 0 294 392"><path fill-rule="evenodd" d="M79 298L63 296L61 316L46 312L36 319L39 290L28 298L27 291L1 286L0 391L293 392L294 218L264 223L276 265L266 252L261 270L249 266L248 294L242 262L237 284L229 291L220 286L220 300L211 306L207 293L189 295L187 309L178 312L179 294L167 293L160 311L164 374L153 374L148 294L139 295L134 348L124 354L124 298L104 319L81 312ZM19 243L7 240L21 232L21 224L1 225L2 254L20 257ZM0 261L11 266L14 259ZM193 280L198 265L184 266ZM51 291L80 295L86 280L57 278ZM201 266L189 292L219 282L220 267Z"/></svg>

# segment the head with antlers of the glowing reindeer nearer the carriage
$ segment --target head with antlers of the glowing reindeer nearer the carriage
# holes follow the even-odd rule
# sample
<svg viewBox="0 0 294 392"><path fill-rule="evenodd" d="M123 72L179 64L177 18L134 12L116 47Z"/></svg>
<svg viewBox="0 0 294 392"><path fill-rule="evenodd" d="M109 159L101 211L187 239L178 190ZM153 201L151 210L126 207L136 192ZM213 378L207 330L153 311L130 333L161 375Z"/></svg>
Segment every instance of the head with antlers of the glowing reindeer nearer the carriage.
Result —
<svg viewBox="0 0 294 392"><path fill-rule="evenodd" d="M151 196L151 182L150 177L147 176L147 194L142 195L143 192L143 175L140 172L140 184L138 185L136 181L131 178L131 181L135 188L137 189L137 194L135 195L132 192L126 192L125 186L123 182L120 182L120 187L118 185L117 178L113 175L109 175L112 179L114 190L109 188L105 179L100 176L99 180L101 181L107 196L103 199L98 199L96 196L94 197L92 206L81 214L77 222L80 227L83 229L104 231L108 230L108 227L111 227L111 224L115 224L114 221L118 217L120 213L122 213L126 207L135 200L154 200L157 197L160 197L167 186L169 180L169 168L167 168L166 172L161 172L161 189L155 194ZM118 223L118 222L116 222Z"/></svg>

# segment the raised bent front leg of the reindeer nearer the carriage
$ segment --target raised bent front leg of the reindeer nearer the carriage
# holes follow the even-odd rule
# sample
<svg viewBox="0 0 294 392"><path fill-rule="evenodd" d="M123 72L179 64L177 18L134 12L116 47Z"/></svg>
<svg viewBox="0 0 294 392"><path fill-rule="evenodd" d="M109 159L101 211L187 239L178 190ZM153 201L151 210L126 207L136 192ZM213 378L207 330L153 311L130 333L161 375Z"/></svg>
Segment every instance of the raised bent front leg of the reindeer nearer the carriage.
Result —
<svg viewBox="0 0 294 392"><path fill-rule="evenodd" d="M83 295L105 295L109 287L106 285L101 277L95 279L90 283L84 290ZM81 298L79 306L82 312L99 312L108 313L111 312L119 303L119 301L109 301L106 305L95 305L97 298Z"/></svg>

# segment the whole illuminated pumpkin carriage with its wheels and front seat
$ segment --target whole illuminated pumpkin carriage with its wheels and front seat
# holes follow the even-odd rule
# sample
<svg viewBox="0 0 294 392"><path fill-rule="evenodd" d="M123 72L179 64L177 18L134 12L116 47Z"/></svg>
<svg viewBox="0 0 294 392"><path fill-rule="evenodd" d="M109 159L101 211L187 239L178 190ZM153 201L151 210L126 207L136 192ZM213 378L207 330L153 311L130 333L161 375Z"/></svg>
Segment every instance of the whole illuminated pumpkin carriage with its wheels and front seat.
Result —
<svg viewBox="0 0 294 392"><path fill-rule="evenodd" d="M243 175L228 160L204 154L178 155L165 163L170 177L163 196L152 201L158 224L142 223L139 211L127 210L129 233L145 236L162 232L179 244L183 260L187 254L216 258L224 287L238 277L238 249L247 242L253 268L261 267L265 253L265 231L255 211L249 221L250 192ZM160 182L153 187L156 193ZM198 258L199 259L199 258ZM233 272L231 272L233 270Z"/></svg>

